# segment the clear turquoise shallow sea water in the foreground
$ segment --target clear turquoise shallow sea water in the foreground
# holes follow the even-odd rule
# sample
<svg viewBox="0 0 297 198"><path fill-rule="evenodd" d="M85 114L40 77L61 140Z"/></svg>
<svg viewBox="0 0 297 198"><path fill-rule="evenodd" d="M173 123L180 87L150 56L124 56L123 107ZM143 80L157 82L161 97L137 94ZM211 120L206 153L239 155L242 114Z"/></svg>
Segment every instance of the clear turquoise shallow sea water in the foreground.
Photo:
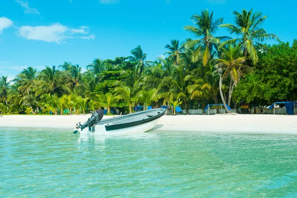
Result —
<svg viewBox="0 0 297 198"><path fill-rule="evenodd" d="M296 197L297 136L2 128L0 197Z"/></svg>

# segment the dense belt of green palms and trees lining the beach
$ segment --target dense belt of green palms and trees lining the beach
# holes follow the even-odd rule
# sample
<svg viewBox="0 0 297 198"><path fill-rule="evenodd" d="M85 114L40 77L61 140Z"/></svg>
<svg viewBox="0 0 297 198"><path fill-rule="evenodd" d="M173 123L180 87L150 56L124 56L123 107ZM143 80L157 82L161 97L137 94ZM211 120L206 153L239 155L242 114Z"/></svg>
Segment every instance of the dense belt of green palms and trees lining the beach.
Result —
<svg viewBox="0 0 297 198"><path fill-rule="evenodd" d="M275 100L297 99L297 40L293 45L267 33L267 16L234 11L234 24L224 23L207 9L191 18L184 30L193 39L173 39L167 52L147 60L141 46L131 56L95 58L86 71L65 61L41 71L24 68L14 79L0 76L2 113L79 114L104 107L132 113L135 106L204 108L241 102L265 106ZM230 35L218 36L224 28ZM267 40L276 44L267 45ZM218 111L218 107L217 107ZM175 108L173 108L175 114Z"/></svg>

